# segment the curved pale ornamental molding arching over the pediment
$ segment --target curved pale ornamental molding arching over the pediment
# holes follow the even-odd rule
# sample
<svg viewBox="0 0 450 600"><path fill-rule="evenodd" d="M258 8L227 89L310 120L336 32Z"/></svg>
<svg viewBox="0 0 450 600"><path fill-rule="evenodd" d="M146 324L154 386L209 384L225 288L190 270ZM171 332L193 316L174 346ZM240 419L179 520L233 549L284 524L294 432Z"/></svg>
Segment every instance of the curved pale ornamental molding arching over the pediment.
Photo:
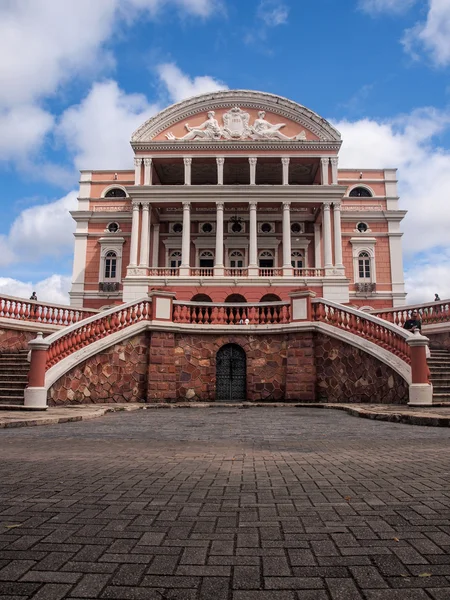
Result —
<svg viewBox="0 0 450 600"><path fill-rule="evenodd" d="M251 90L224 90L221 92L201 94L188 100L178 102L161 111L154 117L148 119L141 127L139 127L132 135L131 142L150 142L158 134L170 129L176 123L186 120L189 117L205 112L211 112L215 109L230 109L240 110L245 114L244 109L255 109L259 111L268 111L282 118L288 119L300 125L316 135L322 141L340 142L340 133L325 119L314 113L312 110L297 104L292 100L268 94L266 92L257 92ZM248 113L247 113L248 114ZM225 115L224 115L225 116ZM228 131L239 131L242 127L245 130L245 119L242 115L236 121L238 129L230 128L232 117L227 118L227 123L224 124L224 129ZM239 120L241 124L239 124ZM230 136L233 137L233 136ZM177 148L178 146L175 146ZM297 147L297 146L294 146Z"/></svg>

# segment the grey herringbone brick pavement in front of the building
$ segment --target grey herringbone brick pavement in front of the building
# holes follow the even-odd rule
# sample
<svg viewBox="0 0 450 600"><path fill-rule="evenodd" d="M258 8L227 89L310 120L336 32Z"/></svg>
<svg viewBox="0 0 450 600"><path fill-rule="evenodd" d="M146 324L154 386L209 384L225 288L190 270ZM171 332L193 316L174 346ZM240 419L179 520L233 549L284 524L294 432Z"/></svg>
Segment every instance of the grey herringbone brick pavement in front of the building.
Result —
<svg viewBox="0 0 450 600"><path fill-rule="evenodd" d="M309 408L1 430L0 598L450 599L449 440Z"/></svg>

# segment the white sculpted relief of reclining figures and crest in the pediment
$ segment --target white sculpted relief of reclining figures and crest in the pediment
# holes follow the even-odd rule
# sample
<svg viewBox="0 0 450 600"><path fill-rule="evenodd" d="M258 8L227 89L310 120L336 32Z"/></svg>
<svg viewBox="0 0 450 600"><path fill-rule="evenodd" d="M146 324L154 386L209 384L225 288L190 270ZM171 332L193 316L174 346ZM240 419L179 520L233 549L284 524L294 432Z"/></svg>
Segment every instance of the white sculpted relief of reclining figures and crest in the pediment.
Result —
<svg viewBox="0 0 450 600"><path fill-rule="evenodd" d="M250 114L243 111L238 106L226 112L223 119L223 126L215 118L213 110L208 112L207 119L204 123L196 127L190 127L185 123L185 128L188 133L182 137L175 137L171 132L166 133L166 138L170 141L191 141L191 140L281 140L281 141L305 141L306 133L301 131L293 137L284 135L280 130L286 126L286 123L270 123L265 118L265 111L258 112L258 118L255 119L253 125L250 125Z"/></svg>

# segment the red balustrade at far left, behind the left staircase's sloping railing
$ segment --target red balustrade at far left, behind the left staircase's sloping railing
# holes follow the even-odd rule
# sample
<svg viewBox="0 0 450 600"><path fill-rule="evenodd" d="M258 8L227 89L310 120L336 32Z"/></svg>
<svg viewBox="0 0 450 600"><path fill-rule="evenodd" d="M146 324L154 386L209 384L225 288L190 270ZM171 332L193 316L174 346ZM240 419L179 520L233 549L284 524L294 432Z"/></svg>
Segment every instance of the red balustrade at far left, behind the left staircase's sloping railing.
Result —
<svg viewBox="0 0 450 600"><path fill-rule="evenodd" d="M14 296L0 296L0 317L6 319L32 321L48 325L72 325L98 312L98 310L72 308L60 304L39 302L38 300L24 300Z"/></svg>

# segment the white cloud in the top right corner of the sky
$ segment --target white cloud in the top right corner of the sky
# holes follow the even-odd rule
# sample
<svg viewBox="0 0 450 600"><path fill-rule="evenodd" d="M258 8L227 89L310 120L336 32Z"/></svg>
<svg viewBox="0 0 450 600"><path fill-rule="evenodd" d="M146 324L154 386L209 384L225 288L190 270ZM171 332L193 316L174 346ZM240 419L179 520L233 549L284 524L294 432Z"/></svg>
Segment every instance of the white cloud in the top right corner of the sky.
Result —
<svg viewBox="0 0 450 600"><path fill-rule="evenodd" d="M415 58L425 50L432 61L441 67L450 64L450 2L449 0L429 0L429 10L425 21L406 30L403 44Z"/></svg>

